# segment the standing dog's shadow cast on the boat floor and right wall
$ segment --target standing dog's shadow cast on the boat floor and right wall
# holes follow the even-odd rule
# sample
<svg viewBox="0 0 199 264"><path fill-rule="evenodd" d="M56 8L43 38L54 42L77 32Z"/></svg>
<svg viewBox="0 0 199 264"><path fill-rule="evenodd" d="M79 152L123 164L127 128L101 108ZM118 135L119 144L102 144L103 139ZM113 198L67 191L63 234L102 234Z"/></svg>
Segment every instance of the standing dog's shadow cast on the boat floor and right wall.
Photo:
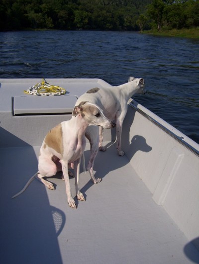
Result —
<svg viewBox="0 0 199 264"><path fill-rule="evenodd" d="M105 152L98 152L98 155L95 159L94 170L96 173L94 176L104 178L109 172L122 168L129 161L132 157L138 152L150 152L152 147L149 146L146 142L146 139L141 135L134 135L130 138L130 129L135 117L135 112L132 111L130 106L128 107L128 111L126 117L123 122L123 129L122 129L122 139L121 145L122 149L124 150L125 154L123 157L119 157L117 155L116 150L116 143L115 141L115 129L111 129L111 142L108 142L105 147ZM85 152L85 160L86 166L90 159L90 151ZM142 162L142 161L140 161ZM93 185L93 181L89 180L86 185L81 189L81 191L85 194L85 192ZM98 183L99 184L99 183Z"/></svg>

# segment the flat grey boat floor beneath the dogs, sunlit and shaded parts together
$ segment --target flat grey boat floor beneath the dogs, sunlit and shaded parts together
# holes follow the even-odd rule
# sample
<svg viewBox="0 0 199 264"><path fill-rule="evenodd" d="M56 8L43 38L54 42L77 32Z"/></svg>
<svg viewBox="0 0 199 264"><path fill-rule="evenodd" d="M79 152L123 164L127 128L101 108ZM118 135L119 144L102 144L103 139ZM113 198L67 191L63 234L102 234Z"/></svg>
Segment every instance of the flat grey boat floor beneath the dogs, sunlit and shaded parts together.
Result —
<svg viewBox="0 0 199 264"><path fill-rule="evenodd" d="M0 263L199 263L199 252L152 200L127 158L116 155L115 146L98 154L99 184L81 168L86 202L78 202L78 209L68 206L60 174L51 178L55 191L34 180L10 199L36 172L38 151L31 146L0 149ZM70 182L75 195L74 179Z"/></svg>

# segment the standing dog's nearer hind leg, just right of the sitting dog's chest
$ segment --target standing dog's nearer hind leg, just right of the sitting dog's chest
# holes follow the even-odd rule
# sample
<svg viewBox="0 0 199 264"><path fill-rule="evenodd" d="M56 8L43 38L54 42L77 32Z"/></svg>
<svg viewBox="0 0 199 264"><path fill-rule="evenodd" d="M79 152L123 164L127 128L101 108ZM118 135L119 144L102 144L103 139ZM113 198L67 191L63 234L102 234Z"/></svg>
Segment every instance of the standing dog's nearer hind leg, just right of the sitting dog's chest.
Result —
<svg viewBox="0 0 199 264"><path fill-rule="evenodd" d="M96 184L101 181L101 178L96 178L93 173L95 158L98 154L99 128L97 126L88 126L85 136L88 138L91 145L91 157L87 165L87 170L90 173L91 179Z"/></svg>

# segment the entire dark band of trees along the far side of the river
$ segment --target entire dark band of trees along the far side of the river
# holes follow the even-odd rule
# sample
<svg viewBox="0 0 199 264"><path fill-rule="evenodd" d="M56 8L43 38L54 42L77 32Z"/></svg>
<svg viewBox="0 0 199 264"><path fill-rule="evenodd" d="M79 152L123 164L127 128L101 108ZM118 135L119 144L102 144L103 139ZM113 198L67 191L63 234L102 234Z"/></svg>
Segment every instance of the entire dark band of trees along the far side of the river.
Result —
<svg viewBox="0 0 199 264"><path fill-rule="evenodd" d="M199 26L199 0L0 0L0 31Z"/></svg>

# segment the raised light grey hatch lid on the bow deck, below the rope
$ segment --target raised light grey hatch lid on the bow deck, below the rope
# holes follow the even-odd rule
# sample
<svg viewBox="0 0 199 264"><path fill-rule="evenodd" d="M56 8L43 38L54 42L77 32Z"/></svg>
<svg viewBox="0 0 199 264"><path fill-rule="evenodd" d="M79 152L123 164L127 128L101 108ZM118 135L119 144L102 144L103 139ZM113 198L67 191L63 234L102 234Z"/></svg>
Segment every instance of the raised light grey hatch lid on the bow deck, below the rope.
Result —
<svg viewBox="0 0 199 264"><path fill-rule="evenodd" d="M71 114L77 97L75 95L13 97L13 115Z"/></svg>

